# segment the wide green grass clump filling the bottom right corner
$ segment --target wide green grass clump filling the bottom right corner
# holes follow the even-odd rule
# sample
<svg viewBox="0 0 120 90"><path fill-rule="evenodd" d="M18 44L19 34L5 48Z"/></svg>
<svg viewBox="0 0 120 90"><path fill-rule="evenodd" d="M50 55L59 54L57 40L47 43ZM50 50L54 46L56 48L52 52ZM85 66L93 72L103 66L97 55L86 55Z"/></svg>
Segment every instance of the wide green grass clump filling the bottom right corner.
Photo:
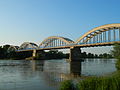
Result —
<svg viewBox="0 0 120 90"><path fill-rule="evenodd" d="M120 76L92 77L80 81L78 90L120 90Z"/></svg>

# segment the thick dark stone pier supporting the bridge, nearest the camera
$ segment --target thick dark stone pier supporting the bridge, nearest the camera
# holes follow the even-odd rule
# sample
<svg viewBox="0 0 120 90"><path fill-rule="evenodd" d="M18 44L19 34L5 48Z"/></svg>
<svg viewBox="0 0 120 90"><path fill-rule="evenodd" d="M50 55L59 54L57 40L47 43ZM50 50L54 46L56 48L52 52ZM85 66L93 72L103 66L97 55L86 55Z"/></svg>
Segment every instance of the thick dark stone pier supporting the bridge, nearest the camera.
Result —
<svg viewBox="0 0 120 90"><path fill-rule="evenodd" d="M70 60L80 60L81 50L79 47L70 47Z"/></svg>

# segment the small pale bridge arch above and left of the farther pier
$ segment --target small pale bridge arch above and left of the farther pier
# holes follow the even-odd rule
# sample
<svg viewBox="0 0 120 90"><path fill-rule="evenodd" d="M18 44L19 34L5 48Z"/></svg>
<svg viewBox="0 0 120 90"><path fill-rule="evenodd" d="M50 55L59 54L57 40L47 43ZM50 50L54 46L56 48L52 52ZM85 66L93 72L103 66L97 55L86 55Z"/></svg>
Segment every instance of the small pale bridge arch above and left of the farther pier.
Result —
<svg viewBox="0 0 120 90"><path fill-rule="evenodd" d="M38 45L32 42L24 42L21 44L18 50L30 50L30 49L37 49Z"/></svg>

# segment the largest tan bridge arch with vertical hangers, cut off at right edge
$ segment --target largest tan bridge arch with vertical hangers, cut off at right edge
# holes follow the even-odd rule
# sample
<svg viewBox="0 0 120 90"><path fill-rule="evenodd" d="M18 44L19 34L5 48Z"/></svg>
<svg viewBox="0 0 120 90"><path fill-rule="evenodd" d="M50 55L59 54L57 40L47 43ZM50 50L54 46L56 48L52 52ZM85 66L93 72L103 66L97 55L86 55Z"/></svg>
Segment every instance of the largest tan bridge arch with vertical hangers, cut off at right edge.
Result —
<svg viewBox="0 0 120 90"><path fill-rule="evenodd" d="M114 23L88 31L76 41L76 44L104 43L118 41L118 39L120 41L120 23Z"/></svg>

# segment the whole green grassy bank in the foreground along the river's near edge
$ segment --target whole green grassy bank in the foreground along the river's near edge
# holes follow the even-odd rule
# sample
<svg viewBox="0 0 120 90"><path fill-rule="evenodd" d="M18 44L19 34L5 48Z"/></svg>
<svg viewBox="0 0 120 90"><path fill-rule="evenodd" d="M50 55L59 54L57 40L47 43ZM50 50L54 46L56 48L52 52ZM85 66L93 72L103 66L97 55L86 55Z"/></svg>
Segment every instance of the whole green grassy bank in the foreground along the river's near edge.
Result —
<svg viewBox="0 0 120 90"><path fill-rule="evenodd" d="M112 76L89 77L77 84L67 80L61 83L60 90L120 90L120 72Z"/></svg>

